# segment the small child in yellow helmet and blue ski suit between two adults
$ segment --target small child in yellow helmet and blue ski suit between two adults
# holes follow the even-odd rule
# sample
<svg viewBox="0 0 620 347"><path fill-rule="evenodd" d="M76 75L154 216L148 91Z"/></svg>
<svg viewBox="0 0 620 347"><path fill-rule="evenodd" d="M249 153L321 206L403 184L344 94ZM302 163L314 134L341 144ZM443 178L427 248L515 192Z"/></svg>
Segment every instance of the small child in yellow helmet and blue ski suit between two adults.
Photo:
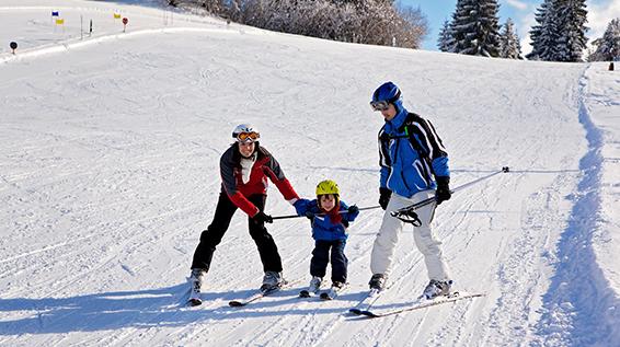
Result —
<svg viewBox="0 0 620 347"><path fill-rule="evenodd" d="M326 180L317 185L317 199L299 199L295 203L298 216L306 216L312 223L314 251L310 261L310 286L302 290L300 297L315 294L320 288L328 263L332 263L332 289L322 294L323 299L333 299L346 284L346 267L348 259L344 246L348 236L348 222L359 215L357 206L347 206L340 199L340 189L335 182ZM331 252L330 252L331 251Z"/></svg>

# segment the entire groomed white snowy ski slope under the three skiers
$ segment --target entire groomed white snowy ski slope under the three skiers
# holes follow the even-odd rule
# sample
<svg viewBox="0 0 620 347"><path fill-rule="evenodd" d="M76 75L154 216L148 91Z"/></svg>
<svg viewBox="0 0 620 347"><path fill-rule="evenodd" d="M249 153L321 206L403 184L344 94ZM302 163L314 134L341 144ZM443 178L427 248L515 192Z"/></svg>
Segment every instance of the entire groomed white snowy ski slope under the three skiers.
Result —
<svg viewBox="0 0 620 347"><path fill-rule="evenodd" d="M54 27L59 10L66 27ZM127 33L113 19L129 19ZM80 41L80 14L94 22ZM620 74L549 63L351 45L153 7L0 2L0 345L618 346ZM8 48L18 41L13 56ZM219 193L218 161L242 122L297 192L324 178L360 207L378 199L368 101L391 80L435 124L457 186L435 229L457 288L486 297L368 320L378 210L347 244L349 290L299 300L306 219L268 225L294 289L243 309L262 266L238 212L202 306L180 304ZM269 188L267 212L294 209ZM426 285L411 230L377 305Z"/></svg>

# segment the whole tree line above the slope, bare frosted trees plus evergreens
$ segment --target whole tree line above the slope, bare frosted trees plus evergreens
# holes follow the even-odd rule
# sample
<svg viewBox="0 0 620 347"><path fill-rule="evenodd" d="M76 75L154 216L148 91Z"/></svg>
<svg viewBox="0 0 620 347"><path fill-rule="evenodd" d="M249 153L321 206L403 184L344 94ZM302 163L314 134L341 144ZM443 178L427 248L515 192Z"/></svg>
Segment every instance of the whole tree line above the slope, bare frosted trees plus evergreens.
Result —
<svg viewBox="0 0 620 347"><path fill-rule="evenodd" d="M420 48L428 21L394 0L164 0L230 21L333 41ZM497 0L457 0L438 37L441 51L523 59L515 23L500 24ZM542 0L529 32L530 60L582 61L587 38L585 0ZM620 59L620 19L593 42L587 60Z"/></svg>

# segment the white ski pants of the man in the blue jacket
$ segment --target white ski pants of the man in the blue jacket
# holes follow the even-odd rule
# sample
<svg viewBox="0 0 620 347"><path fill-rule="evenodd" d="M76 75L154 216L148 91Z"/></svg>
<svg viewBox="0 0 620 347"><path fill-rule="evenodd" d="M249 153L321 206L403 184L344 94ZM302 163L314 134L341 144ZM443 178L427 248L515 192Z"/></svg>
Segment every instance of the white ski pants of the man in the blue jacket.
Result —
<svg viewBox="0 0 620 347"><path fill-rule="evenodd" d="M422 201L434 195L435 190L420 192L411 198L402 197L395 193L392 194L390 203L386 208L386 213L383 215L381 229L379 229L377 239L375 239L375 245L372 246L372 254L370 256L370 270L372 274L389 275L391 269L390 266L394 256L394 248L399 241L399 234L405 224L403 221L390 216L390 212ZM422 225L413 227L413 239L417 250L420 250L420 252L424 255L428 278L448 280L451 278L448 265L446 264L441 253L441 241L435 236L430 229L430 222L435 215L435 204L429 204L416 210Z"/></svg>

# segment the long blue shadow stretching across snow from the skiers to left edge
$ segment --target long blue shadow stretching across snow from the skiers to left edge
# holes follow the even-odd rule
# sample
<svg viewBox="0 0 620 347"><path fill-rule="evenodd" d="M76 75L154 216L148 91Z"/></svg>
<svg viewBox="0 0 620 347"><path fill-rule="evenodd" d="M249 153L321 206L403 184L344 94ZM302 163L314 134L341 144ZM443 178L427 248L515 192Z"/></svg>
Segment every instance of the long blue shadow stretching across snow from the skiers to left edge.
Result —
<svg viewBox="0 0 620 347"><path fill-rule="evenodd" d="M263 319L282 315L343 314L347 309L324 306L318 298L299 299L301 288L269 296L245 308L230 308L228 302L250 296L254 289L203 293L203 305L185 305L187 285L161 289L117 291L71 298L0 299L0 336L113 331L125 327L184 326L188 323L237 319ZM343 293L338 301L359 300L363 292ZM317 304L299 306L302 302ZM294 305L291 309L283 309ZM7 314L13 311L13 313ZM18 319L7 319L16 316Z"/></svg>

